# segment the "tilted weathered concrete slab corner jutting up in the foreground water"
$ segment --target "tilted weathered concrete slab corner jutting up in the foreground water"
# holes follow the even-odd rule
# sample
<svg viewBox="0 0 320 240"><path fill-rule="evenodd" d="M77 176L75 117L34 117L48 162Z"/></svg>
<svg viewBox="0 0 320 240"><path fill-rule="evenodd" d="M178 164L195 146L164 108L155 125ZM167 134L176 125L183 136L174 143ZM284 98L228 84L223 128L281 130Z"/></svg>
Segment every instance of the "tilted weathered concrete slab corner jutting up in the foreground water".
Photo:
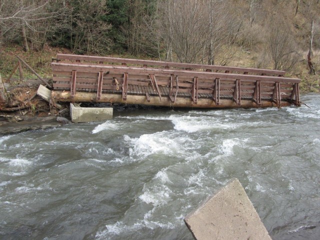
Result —
<svg viewBox="0 0 320 240"><path fill-rule="evenodd" d="M236 178L187 215L184 222L197 240L271 239Z"/></svg>

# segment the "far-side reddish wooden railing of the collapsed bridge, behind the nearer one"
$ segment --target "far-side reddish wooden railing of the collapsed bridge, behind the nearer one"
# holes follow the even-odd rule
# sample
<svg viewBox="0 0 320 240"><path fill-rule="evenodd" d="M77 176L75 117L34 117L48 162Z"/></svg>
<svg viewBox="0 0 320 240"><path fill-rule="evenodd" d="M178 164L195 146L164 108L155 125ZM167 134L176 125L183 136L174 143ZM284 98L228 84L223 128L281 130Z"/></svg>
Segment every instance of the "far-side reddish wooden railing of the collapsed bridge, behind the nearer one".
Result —
<svg viewBox="0 0 320 240"><path fill-rule="evenodd" d="M248 67L233 67L233 66L220 66L220 65L205 65L205 64L192 64L192 63L179 63L167 61L154 61L154 60L141 60L117 57L103 57L103 56L87 56L87 55L73 55L73 54L57 54L56 60L58 61L75 61L79 64L110 64L122 66L140 66L152 68L165 68L165 69L180 69L192 71L213 71L224 73L239 73L239 74L253 74L253 75L270 75L270 76L283 76L285 71L259 69Z"/></svg>

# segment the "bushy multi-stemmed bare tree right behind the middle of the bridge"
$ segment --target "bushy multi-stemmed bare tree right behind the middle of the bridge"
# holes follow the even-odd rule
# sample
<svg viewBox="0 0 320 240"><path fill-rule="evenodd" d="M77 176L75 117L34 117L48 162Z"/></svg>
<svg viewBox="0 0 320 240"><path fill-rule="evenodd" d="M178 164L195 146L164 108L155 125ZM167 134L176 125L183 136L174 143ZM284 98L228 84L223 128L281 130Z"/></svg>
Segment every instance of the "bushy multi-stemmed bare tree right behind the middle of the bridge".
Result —
<svg viewBox="0 0 320 240"><path fill-rule="evenodd" d="M180 62L197 61L207 43L208 34L203 0L164 0L161 6L167 46L172 48Z"/></svg>

